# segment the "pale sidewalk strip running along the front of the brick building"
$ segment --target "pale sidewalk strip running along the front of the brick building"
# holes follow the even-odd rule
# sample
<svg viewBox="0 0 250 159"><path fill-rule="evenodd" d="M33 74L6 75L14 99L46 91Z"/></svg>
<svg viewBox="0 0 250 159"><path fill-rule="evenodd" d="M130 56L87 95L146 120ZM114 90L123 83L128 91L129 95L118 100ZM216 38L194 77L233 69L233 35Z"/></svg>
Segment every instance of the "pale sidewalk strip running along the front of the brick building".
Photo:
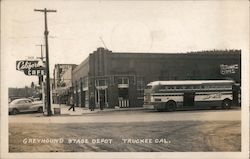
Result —
<svg viewBox="0 0 250 159"><path fill-rule="evenodd" d="M94 111L90 111L89 108L82 108L82 107L75 107L75 111L73 109L68 110L70 106L67 106L65 104L52 104L51 110L54 114L54 108L60 108L61 114L60 115L69 115L69 116L80 116L84 114L95 114L95 113L102 113L102 112L116 112L116 111L137 111L137 110L143 110L143 107L137 107L137 108L105 108L103 110L100 110L99 108L95 109ZM56 114L57 115L57 114ZM58 114L59 115L59 114Z"/></svg>

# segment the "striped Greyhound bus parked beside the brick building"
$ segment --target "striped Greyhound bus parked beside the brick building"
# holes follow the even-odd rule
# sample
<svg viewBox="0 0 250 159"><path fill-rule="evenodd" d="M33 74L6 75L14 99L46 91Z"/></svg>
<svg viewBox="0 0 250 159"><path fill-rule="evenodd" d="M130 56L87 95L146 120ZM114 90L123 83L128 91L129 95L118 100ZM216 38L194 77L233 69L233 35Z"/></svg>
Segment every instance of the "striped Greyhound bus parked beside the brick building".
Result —
<svg viewBox="0 0 250 159"><path fill-rule="evenodd" d="M144 91L144 108L158 111L230 109L233 80L154 81Z"/></svg>

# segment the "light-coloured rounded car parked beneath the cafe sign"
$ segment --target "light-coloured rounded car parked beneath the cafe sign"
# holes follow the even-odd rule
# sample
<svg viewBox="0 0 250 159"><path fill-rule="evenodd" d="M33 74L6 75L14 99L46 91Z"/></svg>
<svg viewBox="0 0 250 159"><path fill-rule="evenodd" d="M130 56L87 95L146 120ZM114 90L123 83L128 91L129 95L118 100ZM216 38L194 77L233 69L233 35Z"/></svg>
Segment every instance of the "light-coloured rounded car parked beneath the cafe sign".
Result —
<svg viewBox="0 0 250 159"><path fill-rule="evenodd" d="M9 114L17 114L19 112L36 111L38 113L43 112L42 102L32 102L31 99L21 98L15 99L9 103Z"/></svg>

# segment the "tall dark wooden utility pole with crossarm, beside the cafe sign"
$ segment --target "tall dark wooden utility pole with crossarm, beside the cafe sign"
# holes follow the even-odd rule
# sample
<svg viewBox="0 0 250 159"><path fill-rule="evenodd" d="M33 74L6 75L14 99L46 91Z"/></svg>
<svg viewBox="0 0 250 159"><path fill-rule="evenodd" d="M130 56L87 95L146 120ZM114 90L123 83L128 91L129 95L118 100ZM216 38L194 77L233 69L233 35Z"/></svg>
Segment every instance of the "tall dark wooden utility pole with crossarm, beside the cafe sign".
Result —
<svg viewBox="0 0 250 159"><path fill-rule="evenodd" d="M51 99L50 99L50 76L49 76L49 44L48 44L48 26L47 26L47 12L56 12L56 10L49 10L49 9L34 9L34 11L37 12L43 12L44 13L44 23L45 23L45 30L44 30L44 36L45 36L45 51L46 51L46 95L47 95L47 105L48 105L48 116L52 115L51 111Z"/></svg>

